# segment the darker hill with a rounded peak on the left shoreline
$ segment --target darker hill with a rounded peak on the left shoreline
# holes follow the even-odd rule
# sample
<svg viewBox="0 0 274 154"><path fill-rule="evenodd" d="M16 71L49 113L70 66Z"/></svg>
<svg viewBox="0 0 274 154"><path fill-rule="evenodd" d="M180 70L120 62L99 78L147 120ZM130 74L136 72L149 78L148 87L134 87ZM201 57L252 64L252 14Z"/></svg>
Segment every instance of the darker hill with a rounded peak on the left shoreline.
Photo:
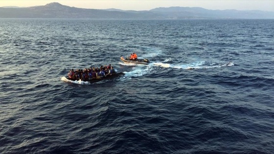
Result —
<svg viewBox="0 0 274 154"><path fill-rule="evenodd" d="M121 12L84 9L65 6L57 2L45 6L26 8L0 7L0 18L49 18L49 19L155 19L153 12Z"/></svg>

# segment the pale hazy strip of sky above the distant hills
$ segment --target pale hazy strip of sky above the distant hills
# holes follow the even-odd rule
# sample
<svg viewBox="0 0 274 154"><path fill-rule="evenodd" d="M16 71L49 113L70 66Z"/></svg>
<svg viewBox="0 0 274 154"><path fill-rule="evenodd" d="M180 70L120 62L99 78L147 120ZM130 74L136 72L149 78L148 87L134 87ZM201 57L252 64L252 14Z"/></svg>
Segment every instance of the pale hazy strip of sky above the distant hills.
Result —
<svg viewBox="0 0 274 154"><path fill-rule="evenodd" d="M0 0L1 6L37 6L50 2L79 8L150 10L157 7L203 7L212 10L263 10L274 12L274 0Z"/></svg>

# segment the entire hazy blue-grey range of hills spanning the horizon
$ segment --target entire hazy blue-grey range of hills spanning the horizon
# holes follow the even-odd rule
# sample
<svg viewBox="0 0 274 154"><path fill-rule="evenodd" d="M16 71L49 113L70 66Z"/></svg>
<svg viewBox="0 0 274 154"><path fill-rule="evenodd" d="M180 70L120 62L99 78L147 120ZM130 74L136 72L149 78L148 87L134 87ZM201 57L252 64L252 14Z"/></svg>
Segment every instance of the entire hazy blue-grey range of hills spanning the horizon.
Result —
<svg viewBox="0 0 274 154"><path fill-rule="evenodd" d="M274 12L208 10L201 7L159 7L149 11L84 9L57 2L33 7L0 7L0 18L49 19L274 19Z"/></svg>

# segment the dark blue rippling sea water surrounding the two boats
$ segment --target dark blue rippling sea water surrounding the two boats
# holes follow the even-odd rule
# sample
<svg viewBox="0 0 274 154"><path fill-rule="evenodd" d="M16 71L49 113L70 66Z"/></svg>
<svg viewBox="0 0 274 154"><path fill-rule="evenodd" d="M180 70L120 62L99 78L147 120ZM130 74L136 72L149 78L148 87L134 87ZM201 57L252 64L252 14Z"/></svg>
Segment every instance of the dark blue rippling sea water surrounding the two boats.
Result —
<svg viewBox="0 0 274 154"><path fill-rule="evenodd" d="M274 20L0 19L0 153L273 154L273 64Z"/></svg>

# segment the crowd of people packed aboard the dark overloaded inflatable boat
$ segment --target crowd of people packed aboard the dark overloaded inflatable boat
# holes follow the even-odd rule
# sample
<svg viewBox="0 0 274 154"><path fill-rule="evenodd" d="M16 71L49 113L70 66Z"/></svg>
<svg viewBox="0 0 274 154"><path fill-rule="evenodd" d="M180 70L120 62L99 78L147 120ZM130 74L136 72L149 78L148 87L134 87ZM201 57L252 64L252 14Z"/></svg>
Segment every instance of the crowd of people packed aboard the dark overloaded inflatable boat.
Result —
<svg viewBox="0 0 274 154"><path fill-rule="evenodd" d="M68 72L68 79L70 80L82 80L82 81L89 81L92 79L102 79L106 76L114 75L116 72L114 67L111 66L101 66L98 67L90 67L83 69L71 69Z"/></svg>

